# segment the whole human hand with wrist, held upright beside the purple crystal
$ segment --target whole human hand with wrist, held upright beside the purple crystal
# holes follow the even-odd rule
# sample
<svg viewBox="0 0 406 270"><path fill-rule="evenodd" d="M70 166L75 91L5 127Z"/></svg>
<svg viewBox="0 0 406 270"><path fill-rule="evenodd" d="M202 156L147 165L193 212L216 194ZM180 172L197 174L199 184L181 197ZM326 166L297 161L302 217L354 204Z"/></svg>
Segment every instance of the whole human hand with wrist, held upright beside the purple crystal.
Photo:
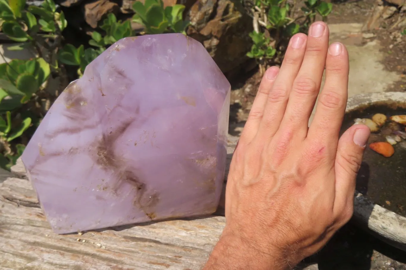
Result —
<svg viewBox="0 0 406 270"><path fill-rule="evenodd" d="M226 226L204 269L290 269L350 220L370 131L354 125L339 138L348 52L328 36L315 22L263 76L231 161Z"/></svg>

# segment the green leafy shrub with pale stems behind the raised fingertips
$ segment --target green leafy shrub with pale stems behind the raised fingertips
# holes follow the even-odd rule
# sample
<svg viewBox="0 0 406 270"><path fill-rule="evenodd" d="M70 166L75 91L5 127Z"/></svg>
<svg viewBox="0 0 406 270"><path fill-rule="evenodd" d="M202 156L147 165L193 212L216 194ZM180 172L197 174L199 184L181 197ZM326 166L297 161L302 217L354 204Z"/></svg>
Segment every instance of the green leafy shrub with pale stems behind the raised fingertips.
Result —
<svg viewBox="0 0 406 270"><path fill-rule="evenodd" d="M296 3L296 1L294 2ZM325 20L333 8L331 3L321 0L307 0L302 14L295 14L295 4L287 0L256 0L251 10L254 18L253 41L248 57L255 58L263 72L271 62L282 58L290 37L299 32L307 32L317 14Z"/></svg>

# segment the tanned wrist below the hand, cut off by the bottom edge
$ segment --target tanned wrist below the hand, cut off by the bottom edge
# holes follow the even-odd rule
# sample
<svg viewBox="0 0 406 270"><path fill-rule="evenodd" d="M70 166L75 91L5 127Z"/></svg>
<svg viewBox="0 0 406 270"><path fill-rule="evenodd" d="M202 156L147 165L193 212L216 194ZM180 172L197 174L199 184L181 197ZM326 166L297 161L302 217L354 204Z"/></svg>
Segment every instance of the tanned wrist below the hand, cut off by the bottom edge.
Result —
<svg viewBox="0 0 406 270"><path fill-rule="evenodd" d="M254 247L255 242L223 232L203 270L288 270L289 262L278 251Z"/></svg>

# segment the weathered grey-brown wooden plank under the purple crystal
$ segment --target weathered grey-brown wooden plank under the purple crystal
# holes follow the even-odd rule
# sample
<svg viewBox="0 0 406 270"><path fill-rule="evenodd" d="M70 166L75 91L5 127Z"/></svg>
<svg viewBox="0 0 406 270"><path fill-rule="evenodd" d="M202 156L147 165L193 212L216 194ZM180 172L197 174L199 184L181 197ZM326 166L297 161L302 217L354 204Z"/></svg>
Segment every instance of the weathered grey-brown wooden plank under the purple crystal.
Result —
<svg viewBox="0 0 406 270"><path fill-rule="evenodd" d="M228 163L237 139L230 137ZM21 161L12 172L19 178L0 181L0 269L197 270L225 224L223 216L208 216L57 235Z"/></svg>

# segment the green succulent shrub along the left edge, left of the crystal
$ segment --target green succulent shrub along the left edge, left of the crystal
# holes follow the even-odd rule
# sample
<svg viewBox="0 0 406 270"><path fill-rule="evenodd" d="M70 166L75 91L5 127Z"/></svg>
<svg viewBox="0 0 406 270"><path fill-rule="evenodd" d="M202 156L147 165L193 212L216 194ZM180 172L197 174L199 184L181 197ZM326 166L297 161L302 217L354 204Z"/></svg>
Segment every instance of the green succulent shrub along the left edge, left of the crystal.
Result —
<svg viewBox="0 0 406 270"><path fill-rule="evenodd" d="M25 148L19 143L28 139L24 132L39 123L38 115L30 115L34 110L27 108L42 98L50 74L61 72L53 52L60 46L67 21L63 12L56 11L52 0L45 0L41 7L28 8L25 0L0 0L0 24L7 37L19 42L9 50L33 48L38 55L0 65L0 166L9 170ZM47 50L46 54L41 47Z"/></svg>

